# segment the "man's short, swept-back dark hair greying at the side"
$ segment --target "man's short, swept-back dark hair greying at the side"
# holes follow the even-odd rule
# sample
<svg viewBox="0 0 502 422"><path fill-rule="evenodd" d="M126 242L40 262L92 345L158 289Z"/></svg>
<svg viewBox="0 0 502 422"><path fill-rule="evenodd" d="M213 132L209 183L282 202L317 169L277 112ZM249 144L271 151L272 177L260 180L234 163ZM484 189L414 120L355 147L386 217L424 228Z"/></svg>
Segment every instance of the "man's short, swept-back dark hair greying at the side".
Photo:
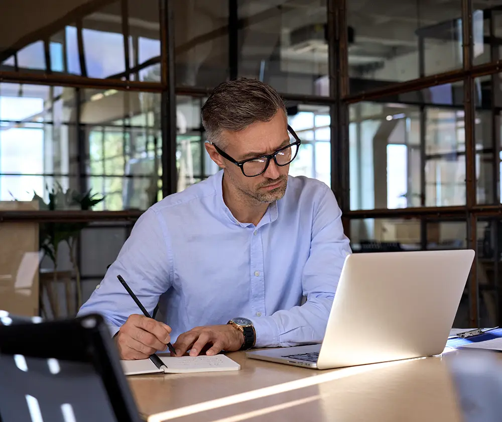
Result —
<svg viewBox="0 0 502 422"><path fill-rule="evenodd" d="M240 78L219 84L204 103L201 115L206 139L222 148L221 132L240 132L256 122L269 122L286 106L279 93L257 79Z"/></svg>

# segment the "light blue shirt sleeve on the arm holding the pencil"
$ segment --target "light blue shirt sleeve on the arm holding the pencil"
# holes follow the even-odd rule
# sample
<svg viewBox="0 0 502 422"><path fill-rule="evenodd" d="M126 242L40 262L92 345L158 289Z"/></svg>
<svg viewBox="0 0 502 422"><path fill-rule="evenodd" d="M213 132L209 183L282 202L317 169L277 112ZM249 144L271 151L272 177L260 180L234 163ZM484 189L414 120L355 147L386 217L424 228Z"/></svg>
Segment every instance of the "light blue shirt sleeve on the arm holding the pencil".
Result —
<svg viewBox="0 0 502 422"><path fill-rule="evenodd" d="M172 254L167 240L165 223L152 208L148 209L77 316L101 314L113 336L131 314L143 314L118 281L119 274L152 314L160 295L172 284Z"/></svg>

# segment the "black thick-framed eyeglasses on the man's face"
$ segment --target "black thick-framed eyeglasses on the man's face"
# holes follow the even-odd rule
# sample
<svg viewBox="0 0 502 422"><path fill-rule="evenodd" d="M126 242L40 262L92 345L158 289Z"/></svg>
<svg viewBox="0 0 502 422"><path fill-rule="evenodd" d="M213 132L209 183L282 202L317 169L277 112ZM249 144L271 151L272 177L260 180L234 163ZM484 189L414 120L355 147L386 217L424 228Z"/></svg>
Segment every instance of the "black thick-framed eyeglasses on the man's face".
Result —
<svg viewBox="0 0 502 422"><path fill-rule="evenodd" d="M218 151L218 154L223 158L226 158L228 161L232 162L236 166L240 167L242 174L246 177L256 177L262 173L265 173L267 168L269 167L270 160L274 159L274 162L279 167L287 166L291 163L298 154L298 148L302 141L298 138L298 135L295 133L291 126L288 125L288 131L295 138L295 142L278 149L272 154L262 155L261 157L249 158L247 160L237 161L230 157L226 152L222 151L216 145L214 145L214 149Z"/></svg>

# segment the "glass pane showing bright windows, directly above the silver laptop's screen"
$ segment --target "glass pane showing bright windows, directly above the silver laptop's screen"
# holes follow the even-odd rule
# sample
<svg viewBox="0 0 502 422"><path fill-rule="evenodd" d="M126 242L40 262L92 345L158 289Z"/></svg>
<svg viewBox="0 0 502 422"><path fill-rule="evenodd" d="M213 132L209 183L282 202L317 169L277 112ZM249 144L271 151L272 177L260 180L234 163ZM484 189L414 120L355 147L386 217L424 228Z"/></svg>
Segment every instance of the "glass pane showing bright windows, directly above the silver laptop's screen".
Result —
<svg viewBox="0 0 502 422"><path fill-rule="evenodd" d="M462 95L447 84L350 106L350 209L465 204Z"/></svg>

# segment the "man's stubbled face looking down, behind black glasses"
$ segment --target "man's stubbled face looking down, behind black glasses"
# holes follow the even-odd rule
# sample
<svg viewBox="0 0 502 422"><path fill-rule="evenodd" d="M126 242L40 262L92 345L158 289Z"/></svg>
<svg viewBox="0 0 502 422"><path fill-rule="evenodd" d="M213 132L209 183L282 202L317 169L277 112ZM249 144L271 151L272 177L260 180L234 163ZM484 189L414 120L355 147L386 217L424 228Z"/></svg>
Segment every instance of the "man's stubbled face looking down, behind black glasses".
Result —
<svg viewBox="0 0 502 422"><path fill-rule="evenodd" d="M287 125L286 115L280 110L269 122L254 123L240 132L224 131L222 136L227 141L224 152L236 161L272 154L292 142ZM220 167L225 168L225 175L228 176L229 181L250 198L262 203L271 203L281 199L286 193L289 164L278 166L272 159L264 173L255 177L246 177L242 174L240 167L220 155L213 159Z"/></svg>

